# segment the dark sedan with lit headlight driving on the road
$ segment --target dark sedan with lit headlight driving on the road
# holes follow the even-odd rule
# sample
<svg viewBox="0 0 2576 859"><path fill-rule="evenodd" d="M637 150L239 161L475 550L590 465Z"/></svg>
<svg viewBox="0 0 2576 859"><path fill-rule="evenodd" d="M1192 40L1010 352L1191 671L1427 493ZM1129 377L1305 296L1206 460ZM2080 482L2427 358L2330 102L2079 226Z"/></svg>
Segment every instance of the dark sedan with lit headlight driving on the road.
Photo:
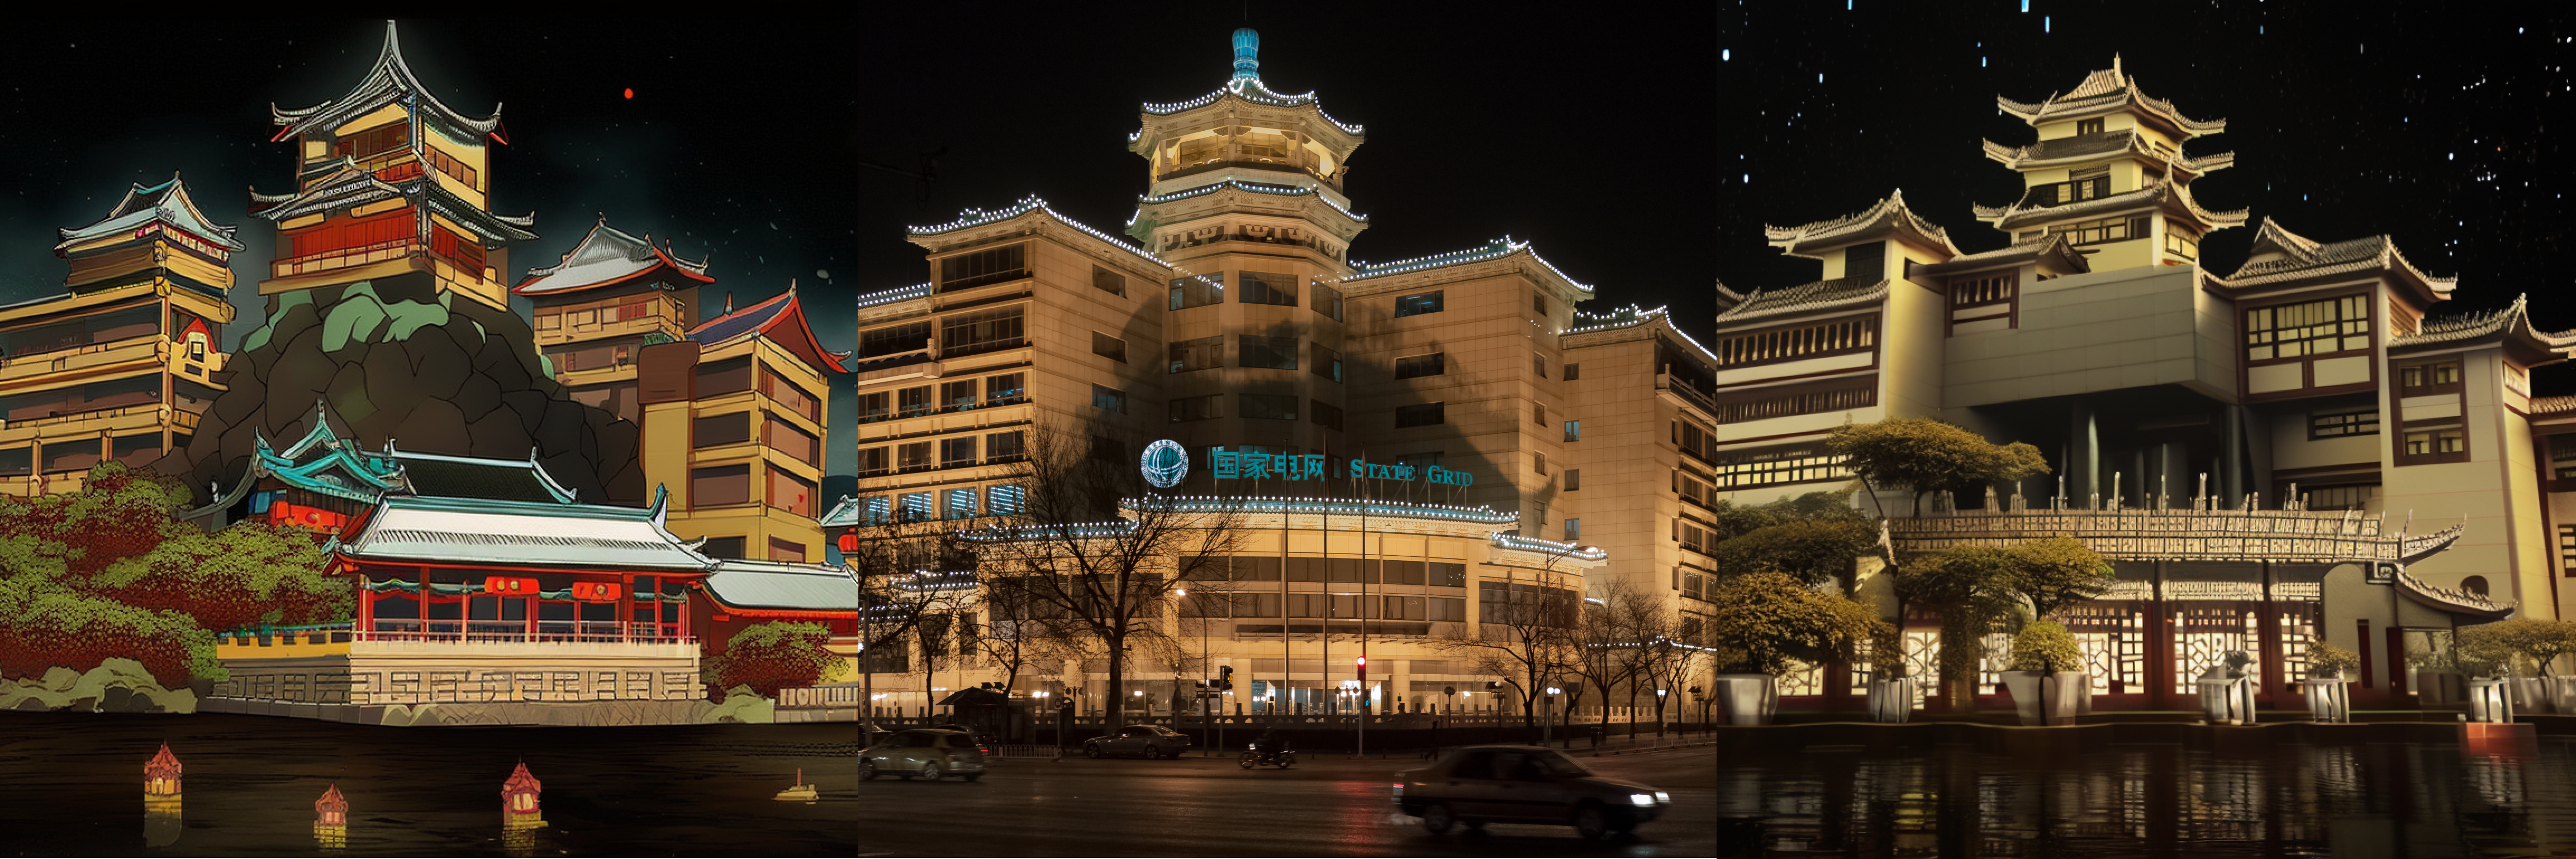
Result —
<svg viewBox="0 0 2576 859"><path fill-rule="evenodd" d="M1399 772L1394 802L1435 836L1458 823L1556 823L1600 838L1654 820L1672 795L1592 774L1553 748L1468 746L1440 764Z"/></svg>

